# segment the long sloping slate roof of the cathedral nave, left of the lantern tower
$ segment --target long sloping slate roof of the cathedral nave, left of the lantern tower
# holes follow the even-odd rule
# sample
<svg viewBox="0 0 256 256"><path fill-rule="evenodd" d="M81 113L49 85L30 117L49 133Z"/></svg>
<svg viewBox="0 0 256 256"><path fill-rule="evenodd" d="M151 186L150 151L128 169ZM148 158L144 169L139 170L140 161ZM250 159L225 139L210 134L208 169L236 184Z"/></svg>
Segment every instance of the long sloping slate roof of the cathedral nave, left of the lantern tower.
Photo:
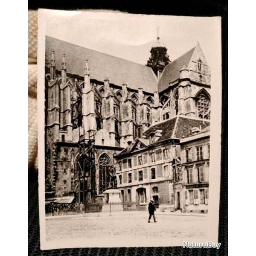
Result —
<svg viewBox="0 0 256 256"><path fill-rule="evenodd" d="M67 73L84 76L85 60L88 59L91 79L104 81L108 76L110 83L119 86L125 81L127 87L135 90L142 87L146 92L157 91L158 81L151 67L46 36L48 61L52 50L55 51L57 70L61 69L62 54L65 53Z"/></svg>

